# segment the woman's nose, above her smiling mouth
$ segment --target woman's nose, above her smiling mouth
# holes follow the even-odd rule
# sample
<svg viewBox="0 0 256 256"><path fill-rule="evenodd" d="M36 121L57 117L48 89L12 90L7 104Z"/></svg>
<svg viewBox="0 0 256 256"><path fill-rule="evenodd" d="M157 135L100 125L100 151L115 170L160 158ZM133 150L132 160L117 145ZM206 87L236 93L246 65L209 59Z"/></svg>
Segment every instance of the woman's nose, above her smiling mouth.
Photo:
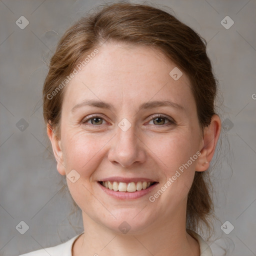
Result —
<svg viewBox="0 0 256 256"><path fill-rule="evenodd" d="M135 125L132 124L126 131L117 126L116 135L111 140L108 160L127 168L132 164L143 163L145 157L145 144L135 131Z"/></svg>

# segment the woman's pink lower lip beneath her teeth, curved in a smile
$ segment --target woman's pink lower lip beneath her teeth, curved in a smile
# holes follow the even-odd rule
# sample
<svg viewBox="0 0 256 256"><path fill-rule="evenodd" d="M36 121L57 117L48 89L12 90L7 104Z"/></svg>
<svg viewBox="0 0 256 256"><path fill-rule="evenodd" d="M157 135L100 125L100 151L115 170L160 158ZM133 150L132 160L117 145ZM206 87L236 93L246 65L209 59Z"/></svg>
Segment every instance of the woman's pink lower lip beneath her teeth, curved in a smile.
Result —
<svg viewBox="0 0 256 256"><path fill-rule="evenodd" d="M116 199L120 199L120 200L132 200L132 199L137 199L143 195L148 194L150 191L152 191L154 189L154 187L158 184L154 183L153 185L149 186L146 189L141 189L139 191L135 191L135 192L120 192L120 191L114 191L114 190L110 190L106 187L104 187L103 185L101 185L99 182L97 182L98 185L101 187L101 189L103 189L103 191L108 194L113 196Z"/></svg>

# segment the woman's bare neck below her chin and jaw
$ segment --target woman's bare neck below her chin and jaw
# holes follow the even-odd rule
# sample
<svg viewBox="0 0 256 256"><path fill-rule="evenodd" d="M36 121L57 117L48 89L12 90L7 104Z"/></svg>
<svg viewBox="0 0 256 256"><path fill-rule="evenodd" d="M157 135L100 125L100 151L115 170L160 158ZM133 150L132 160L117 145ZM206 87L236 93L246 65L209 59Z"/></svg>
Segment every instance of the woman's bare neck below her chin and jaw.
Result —
<svg viewBox="0 0 256 256"><path fill-rule="evenodd" d="M72 256L199 256L198 242L185 229L185 214L161 218L143 230L120 234L93 221L82 212L84 233L73 246Z"/></svg>

